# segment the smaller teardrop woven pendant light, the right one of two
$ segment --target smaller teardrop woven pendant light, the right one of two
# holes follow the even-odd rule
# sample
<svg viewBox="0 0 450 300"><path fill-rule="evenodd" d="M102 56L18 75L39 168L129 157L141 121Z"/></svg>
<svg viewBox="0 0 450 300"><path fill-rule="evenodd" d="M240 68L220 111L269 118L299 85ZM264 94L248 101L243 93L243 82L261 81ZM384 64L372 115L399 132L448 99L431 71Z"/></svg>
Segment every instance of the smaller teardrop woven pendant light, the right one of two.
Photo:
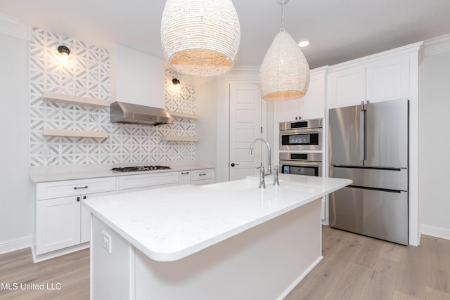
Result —
<svg viewBox="0 0 450 300"><path fill-rule="evenodd" d="M284 4L282 6L281 30L259 67L259 92L264 100L283 101L302 98L308 91L309 65L300 46L284 30Z"/></svg>

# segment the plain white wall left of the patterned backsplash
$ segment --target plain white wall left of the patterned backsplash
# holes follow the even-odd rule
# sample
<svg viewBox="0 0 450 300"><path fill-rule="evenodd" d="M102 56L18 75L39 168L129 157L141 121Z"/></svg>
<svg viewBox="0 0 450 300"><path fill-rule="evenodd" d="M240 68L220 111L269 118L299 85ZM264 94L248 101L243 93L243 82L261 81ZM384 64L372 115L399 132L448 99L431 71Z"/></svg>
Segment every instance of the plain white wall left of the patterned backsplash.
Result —
<svg viewBox="0 0 450 300"><path fill-rule="evenodd" d="M30 245L33 226L29 41L0 33L0 253ZM22 245L22 246L21 246Z"/></svg>

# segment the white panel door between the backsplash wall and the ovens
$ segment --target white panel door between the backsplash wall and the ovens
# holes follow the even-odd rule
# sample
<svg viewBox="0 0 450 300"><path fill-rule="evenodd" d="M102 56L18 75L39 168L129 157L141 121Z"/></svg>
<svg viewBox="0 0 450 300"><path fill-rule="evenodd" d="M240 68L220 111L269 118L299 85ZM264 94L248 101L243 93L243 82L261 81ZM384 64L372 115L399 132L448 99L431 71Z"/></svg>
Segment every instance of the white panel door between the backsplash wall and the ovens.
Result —
<svg viewBox="0 0 450 300"><path fill-rule="evenodd" d="M230 84L230 180L257 174L262 144L257 142L250 155L250 144L262 136L262 100L257 84ZM264 145L265 148L265 145ZM263 162L264 165L266 162Z"/></svg>

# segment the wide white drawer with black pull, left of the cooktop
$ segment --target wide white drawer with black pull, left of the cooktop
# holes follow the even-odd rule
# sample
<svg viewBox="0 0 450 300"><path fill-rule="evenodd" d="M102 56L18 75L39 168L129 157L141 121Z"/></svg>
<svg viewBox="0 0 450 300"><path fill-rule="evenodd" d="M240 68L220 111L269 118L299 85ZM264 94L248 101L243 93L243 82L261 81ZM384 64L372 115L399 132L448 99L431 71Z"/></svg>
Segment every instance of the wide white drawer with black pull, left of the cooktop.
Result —
<svg viewBox="0 0 450 300"><path fill-rule="evenodd" d="M89 178L72 181L51 181L36 184L36 199L51 199L115 191L115 177Z"/></svg>

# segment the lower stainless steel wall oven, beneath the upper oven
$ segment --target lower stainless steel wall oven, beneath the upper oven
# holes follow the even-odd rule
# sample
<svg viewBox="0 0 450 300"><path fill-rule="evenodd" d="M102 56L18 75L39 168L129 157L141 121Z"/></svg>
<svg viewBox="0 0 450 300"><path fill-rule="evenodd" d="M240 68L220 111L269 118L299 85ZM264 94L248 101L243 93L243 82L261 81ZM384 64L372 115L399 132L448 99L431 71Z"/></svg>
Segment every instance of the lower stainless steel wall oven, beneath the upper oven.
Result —
<svg viewBox="0 0 450 300"><path fill-rule="evenodd" d="M322 153L280 153L283 174L322 176Z"/></svg>

